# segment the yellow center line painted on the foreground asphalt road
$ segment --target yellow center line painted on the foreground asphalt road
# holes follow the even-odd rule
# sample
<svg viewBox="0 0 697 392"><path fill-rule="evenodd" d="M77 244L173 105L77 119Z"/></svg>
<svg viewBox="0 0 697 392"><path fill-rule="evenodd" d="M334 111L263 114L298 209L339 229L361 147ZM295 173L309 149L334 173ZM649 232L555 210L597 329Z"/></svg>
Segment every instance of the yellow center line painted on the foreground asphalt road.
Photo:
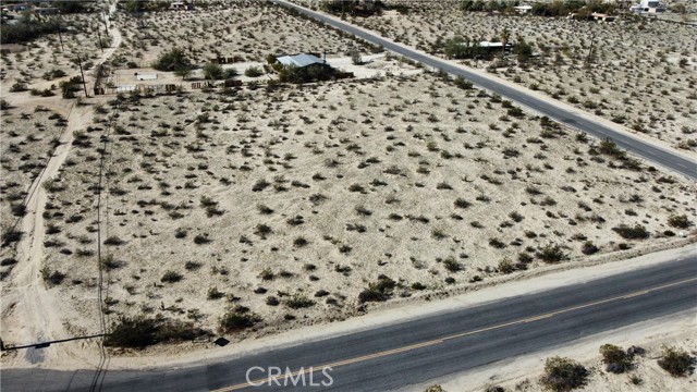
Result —
<svg viewBox="0 0 697 392"><path fill-rule="evenodd" d="M448 340L453 340L453 339L457 339L457 338L464 338L464 336L468 336L468 335L473 335L473 334L477 334L477 333L481 333L481 332L487 332L487 331L491 331L491 330L496 330L496 329L501 329L501 328L505 328L505 327L511 327L511 326L515 326L515 324L534 322L534 321L547 319L547 318L550 318L550 317L554 317L557 315L566 314L566 313L574 311L574 310L585 309L585 308L589 308L589 307L594 307L594 306L598 306L598 305L603 305L603 304L608 304L608 303L620 301L620 299L627 299L627 298L633 298L633 297L640 296L640 295L646 295L646 294L649 294L649 293L658 291L658 290L662 290L662 289L667 289L667 287L671 287L671 286L688 283L688 282L692 282L692 281L695 281L695 280L697 280L697 278L685 279L685 280L682 280L682 281L677 281L677 282L673 282L673 283L667 283L667 284L663 284L663 285L660 285L660 286L656 286L656 287L651 287L651 289L647 289L647 290L640 290L640 291L637 291L637 292L634 292L634 293L619 295L619 296L614 296L614 297L610 297L610 298L606 298L606 299L600 299L600 301L596 301L596 302L584 304L584 305L572 306L572 307L567 307L567 308L564 308L564 309L561 309L561 310L551 311L551 313L542 314L542 315L539 315L539 316L528 317L528 318L521 319L521 320L504 322L504 323L500 323L500 324L496 324L496 326L491 326L491 327L487 327L487 328L481 328L481 329L477 329L477 330L473 330L473 331L462 332L462 333L449 335L449 336L445 336L445 338L435 339L435 340L430 340L430 341L426 341L426 342L421 342L421 343L411 344L411 345L403 346L403 347L398 347L398 348L387 350L387 351L382 351L382 352L378 352L378 353L374 353L374 354L363 355L363 356L358 356L358 357L354 357L354 358L350 358L350 359L344 359L344 360L340 360L340 362L335 362L335 363L331 363L331 364L325 364L325 365L320 365L320 366L311 366L311 367L309 367L307 369L303 368L303 370L297 370L297 371L294 371L292 373L283 373L283 375L279 375L279 376L274 376L274 377L267 377L267 378L262 378L262 379L249 380L249 382L243 382L243 383L239 383L239 384L235 384L235 385L221 388L221 389L218 389L218 390L213 390L211 392L236 391L236 390L241 390L241 389L245 389L245 388L252 387L254 384L258 385L260 383L271 382L271 381L276 381L276 380L283 380L283 379L289 378L289 377L296 377L296 376L305 373L305 372L311 372L313 369L321 369L321 368L328 368L328 367L329 368L335 368L335 367L340 367L340 366L346 366L346 365L351 365L351 364L366 362L366 360L369 360L369 359L380 358L380 357L384 357L384 356L389 356L389 355L405 353L405 352L408 352L408 351L412 351L412 350L417 350L417 348L421 348L421 347L427 347L427 346L440 344L440 343L443 343L443 342L445 342Z"/></svg>

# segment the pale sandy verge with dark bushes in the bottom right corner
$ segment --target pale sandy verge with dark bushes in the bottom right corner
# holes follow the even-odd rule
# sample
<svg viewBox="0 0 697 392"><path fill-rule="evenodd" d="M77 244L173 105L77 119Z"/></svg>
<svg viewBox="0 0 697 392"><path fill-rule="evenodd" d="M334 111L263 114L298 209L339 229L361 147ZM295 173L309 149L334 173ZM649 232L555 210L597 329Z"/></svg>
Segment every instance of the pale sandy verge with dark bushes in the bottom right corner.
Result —
<svg viewBox="0 0 697 392"><path fill-rule="evenodd" d="M680 347L695 355L695 311L690 310L584 338L571 345L509 358L466 373L411 387L409 390L423 391L432 384L440 384L445 391L484 391L494 385L505 391L545 391L539 382L545 360L559 355L577 360L590 370L587 384L579 391L692 391L697 383L695 373L672 377L658 366L657 359L663 346ZM634 369L614 375L604 370L602 357L598 353L599 347L607 343L625 350L634 345L646 350L646 353L635 357ZM641 380L638 385L631 381L634 376Z"/></svg>

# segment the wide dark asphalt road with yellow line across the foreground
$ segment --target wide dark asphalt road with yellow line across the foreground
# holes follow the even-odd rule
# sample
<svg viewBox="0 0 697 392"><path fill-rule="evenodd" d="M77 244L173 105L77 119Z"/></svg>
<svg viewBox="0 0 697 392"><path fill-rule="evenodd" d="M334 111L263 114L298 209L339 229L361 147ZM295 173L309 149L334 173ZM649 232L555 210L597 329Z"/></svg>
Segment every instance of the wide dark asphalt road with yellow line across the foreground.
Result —
<svg viewBox="0 0 697 392"><path fill-rule="evenodd" d="M252 356L186 369L107 371L102 391L235 390L254 366L291 371L314 366L315 383L332 391L387 391L475 369L497 360L561 345L573 340L656 317L694 310L697 257L661 264L600 280L445 311L393 326L315 341ZM427 305L425 305L427 306ZM254 370L253 381L264 378ZM9 391L88 391L94 370L3 370ZM291 389L291 379L288 388ZM299 378L297 379L299 382ZM309 387L299 390L317 390ZM264 391L269 388L240 388ZM279 388L271 388L279 389Z"/></svg>

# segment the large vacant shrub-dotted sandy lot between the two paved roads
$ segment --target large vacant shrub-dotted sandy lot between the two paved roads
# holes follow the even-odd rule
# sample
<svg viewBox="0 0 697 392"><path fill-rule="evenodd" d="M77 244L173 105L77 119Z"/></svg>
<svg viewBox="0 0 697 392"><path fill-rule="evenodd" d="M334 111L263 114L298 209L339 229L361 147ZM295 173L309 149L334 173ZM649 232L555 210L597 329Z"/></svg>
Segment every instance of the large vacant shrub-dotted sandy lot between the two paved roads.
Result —
<svg viewBox="0 0 697 392"><path fill-rule="evenodd" d="M268 332L667 243L684 230L671 224L695 220L694 184L432 74L96 111L46 206L46 271L63 275L50 290L85 313L70 321L85 331L102 149L111 319L163 314L216 330L242 307Z"/></svg>

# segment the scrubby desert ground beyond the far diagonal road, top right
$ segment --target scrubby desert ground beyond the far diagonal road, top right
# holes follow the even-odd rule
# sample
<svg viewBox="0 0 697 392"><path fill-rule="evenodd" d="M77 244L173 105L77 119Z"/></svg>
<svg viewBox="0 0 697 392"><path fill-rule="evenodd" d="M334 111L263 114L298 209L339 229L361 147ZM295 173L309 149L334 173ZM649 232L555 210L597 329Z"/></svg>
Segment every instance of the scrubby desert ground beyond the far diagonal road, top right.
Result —
<svg viewBox="0 0 697 392"><path fill-rule="evenodd" d="M525 39L534 46L537 57L529 64L518 64L513 56L465 63L571 102L636 134L685 150L697 148L697 96L693 88L697 47L690 38L696 26L646 19L599 24L465 14L458 1L392 3L407 4L408 14L388 11L381 16L348 16L346 21L437 56L444 56L443 44L454 36L499 41L500 32L508 28L513 41ZM587 69L584 62L591 38L596 49L592 66ZM686 63L680 64L681 60Z"/></svg>

